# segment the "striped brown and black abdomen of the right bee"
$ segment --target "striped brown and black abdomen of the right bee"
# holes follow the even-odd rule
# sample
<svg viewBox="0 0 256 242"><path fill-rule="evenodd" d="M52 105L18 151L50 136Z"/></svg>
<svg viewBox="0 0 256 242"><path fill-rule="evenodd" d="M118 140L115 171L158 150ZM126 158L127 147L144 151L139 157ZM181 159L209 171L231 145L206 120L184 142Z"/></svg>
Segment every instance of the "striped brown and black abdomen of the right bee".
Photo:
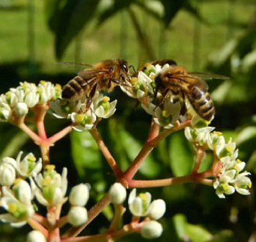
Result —
<svg viewBox="0 0 256 242"><path fill-rule="evenodd" d="M201 90L198 87L193 87L187 93L188 100L201 118L211 121L215 114L214 103L207 90Z"/></svg>

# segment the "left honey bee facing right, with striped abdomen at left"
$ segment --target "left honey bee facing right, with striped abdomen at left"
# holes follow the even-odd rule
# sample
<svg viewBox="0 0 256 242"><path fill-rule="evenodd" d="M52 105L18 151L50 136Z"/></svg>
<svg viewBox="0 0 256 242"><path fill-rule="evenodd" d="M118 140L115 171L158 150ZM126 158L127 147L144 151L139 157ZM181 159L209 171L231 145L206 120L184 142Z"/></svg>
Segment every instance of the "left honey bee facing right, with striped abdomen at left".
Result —
<svg viewBox="0 0 256 242"><path fill-rule="evenodd" d="M97 90L110 92L116 85L126 86L130 79L126 60L104 60L96 65L75 62L60 62L60 64L88 66L88 69L82 70L64 85L62 92L62 98L68 100L86 96L86 110L90 108Z"/></svg>

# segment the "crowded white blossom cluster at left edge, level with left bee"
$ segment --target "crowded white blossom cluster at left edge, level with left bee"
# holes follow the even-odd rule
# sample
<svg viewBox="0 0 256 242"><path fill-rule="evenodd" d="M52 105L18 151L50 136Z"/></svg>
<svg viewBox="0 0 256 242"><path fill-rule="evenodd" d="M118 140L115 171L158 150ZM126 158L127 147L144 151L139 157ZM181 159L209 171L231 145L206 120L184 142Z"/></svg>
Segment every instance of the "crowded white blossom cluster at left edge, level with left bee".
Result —
<svg viewBox="0 0 256 242"><path fill-rule="evenodd" d="M55 101L60 98L61 86L41 80L38 85L34 83L19 83L17 88L0 96L0 121L11 121L12 118L25 116L29 108Z"/></svg>

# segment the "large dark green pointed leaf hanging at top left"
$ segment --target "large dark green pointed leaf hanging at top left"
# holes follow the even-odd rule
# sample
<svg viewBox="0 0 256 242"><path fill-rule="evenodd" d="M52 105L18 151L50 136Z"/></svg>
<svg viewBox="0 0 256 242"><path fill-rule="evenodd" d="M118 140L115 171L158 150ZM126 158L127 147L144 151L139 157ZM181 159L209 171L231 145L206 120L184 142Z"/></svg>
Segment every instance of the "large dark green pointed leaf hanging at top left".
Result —
<svg viewBox="0 0 256 242"><path fill-rule="evenodd" d="M100 0L47 1L47 18L55 34L56 57L60 59L76 35L94 17Z"/></svg>

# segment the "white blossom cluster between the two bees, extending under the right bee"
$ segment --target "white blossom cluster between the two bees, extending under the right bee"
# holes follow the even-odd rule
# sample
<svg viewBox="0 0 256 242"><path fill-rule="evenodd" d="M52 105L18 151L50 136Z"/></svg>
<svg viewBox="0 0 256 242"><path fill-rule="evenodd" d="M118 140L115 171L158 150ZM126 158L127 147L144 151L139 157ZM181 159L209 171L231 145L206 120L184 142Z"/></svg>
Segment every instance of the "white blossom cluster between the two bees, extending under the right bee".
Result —
<svg viewBox="0 0 256 242"><path fill-rule="evenodd" d="M163 105L159 103L163 96L158 92L155 97L155 77L162 71L169 68L170 65L165 64L163 67L160 65L147 65L144 72L139 71L137 77L131 79L131 88L122 87L124 93L131 98L137 98L142 103L142 108L153 116L155 124L162 126L164 129L171 129L176 121L186 120L186 116L181 116L180 111L183 105L186 105L186 115L191 116L193 126L199 123L204 123L205 126L209 122L202 119L188 101L181 100L180 96L168 96Z"/></svg>

